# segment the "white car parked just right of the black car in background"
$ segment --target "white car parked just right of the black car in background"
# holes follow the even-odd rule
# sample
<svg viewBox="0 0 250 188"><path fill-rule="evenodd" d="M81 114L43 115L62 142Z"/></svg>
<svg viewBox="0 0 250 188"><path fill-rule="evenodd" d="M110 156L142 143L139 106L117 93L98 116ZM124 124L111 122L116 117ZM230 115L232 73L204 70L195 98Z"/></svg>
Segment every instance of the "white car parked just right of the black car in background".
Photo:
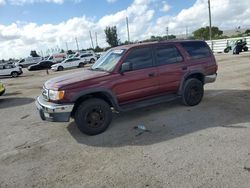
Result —
<svg viewBox="0 0 250 188"><path fill-rule="evenodd" d="M61 63L57 63L57 64L52 65L51 69L53 71L62 71L64 69L70 69L73 67L84 67L84 65L86 63L87 62L85 59L73 57L73 58L65 59Z"/></svg>

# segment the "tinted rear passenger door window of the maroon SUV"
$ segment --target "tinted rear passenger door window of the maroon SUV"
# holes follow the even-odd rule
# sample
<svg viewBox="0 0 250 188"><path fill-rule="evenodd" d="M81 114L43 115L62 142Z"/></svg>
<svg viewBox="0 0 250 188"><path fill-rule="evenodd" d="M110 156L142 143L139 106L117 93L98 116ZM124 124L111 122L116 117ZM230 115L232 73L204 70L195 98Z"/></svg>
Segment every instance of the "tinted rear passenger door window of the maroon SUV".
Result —
<svg viewBox="0 0 250 188"><path fill-rule="evenodd" d="M158 65L178 63L183 60L179 50L175 46L159 46L156 48Z"/></svg>

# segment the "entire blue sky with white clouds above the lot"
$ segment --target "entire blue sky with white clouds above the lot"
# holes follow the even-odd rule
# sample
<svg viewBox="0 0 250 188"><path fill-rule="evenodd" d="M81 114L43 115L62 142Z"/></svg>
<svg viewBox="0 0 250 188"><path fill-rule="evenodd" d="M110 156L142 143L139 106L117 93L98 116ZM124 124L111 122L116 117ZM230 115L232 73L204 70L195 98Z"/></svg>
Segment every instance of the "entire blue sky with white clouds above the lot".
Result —
<svg viewBox="0 0 250 188"><path fill-rule="evenodd" d="M26 57L30 50L91 47L89 31L105 42L106 26L117 26L127 40L189 33L208 25L207 0L0 0L0 59ZM220 29L250 28L249 0L211 0L212 24ZM95 45L94 40L94 45Z"/></svg>

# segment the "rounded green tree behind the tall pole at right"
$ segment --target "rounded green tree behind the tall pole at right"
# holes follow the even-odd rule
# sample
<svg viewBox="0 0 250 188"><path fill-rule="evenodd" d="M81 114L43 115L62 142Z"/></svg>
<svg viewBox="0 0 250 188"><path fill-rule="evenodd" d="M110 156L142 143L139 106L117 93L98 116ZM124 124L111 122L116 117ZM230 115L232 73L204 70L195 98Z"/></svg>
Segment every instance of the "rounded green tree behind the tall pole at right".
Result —
<svg viewBox="0 0 250 188"><path fill-rule="evenodd" d="M218 39L222 36L223 31L221 31L218 27L212 27L212 39ZM201 27L193 32L195 39L204 39L208 40L209 37L209 27Z"/></svg>

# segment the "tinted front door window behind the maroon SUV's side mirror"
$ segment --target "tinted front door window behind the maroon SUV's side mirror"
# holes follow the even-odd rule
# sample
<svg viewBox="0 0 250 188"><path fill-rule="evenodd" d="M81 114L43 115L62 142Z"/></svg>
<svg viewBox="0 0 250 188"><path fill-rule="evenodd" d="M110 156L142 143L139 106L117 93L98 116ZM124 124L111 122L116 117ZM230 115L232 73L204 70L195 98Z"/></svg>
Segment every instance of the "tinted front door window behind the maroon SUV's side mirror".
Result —
<svg viewBox="0 0 250 188"><path fill-rule="evenodd" d="M133 49L127 56L125 62L132 63L132 69L144 69L153 66L151 48Z"/></svg>

